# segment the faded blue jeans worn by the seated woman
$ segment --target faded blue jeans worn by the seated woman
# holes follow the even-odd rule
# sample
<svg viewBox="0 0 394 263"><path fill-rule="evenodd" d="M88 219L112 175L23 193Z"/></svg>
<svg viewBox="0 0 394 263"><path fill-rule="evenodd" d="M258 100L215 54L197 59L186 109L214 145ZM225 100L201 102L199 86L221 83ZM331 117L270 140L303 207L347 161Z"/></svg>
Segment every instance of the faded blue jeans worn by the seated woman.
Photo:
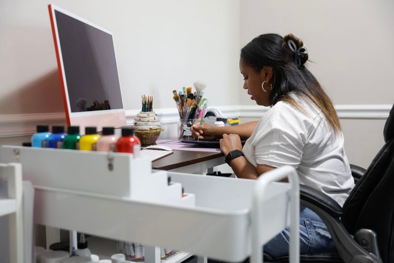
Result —
<svg viewBox="0 0 394 263"><path fill-rule="evenodd" d="M263 247L263 253L272 258L289 255L290 228L272 238ZM335 252L336 248L323 220L312 210L300 206L299 212L299 252L315 254Z"/></svg>

